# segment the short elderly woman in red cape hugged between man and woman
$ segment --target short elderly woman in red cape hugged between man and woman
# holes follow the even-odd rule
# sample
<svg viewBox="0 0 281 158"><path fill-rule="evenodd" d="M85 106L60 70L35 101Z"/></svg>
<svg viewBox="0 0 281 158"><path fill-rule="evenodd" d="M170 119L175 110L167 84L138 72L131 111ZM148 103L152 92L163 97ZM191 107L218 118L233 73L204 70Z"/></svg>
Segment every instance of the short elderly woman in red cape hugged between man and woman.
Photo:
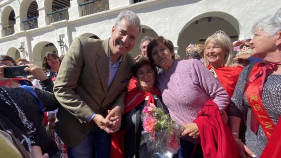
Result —
<svg viewBox="0 0 281 158"><path fill-rule="evenodd" d="M125 110L120 130L111 135L111 157L148 157L146 142L142 141L144 131L141 114L149 103L166 109L161 92L155 86L157 68L147 59L140 59L132 73L138 87L130 90L125 97ZM168 111L168 110L166 110ZM150 157L150 156L149 156Z"/></svg>

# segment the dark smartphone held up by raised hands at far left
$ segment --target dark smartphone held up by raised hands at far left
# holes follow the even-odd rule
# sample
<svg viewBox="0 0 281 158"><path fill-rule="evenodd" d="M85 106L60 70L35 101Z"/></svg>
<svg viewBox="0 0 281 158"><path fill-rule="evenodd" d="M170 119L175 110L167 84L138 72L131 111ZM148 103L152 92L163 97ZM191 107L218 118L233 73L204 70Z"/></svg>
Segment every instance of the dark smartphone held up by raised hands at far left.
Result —
<svg viewBox="0 0 281 158"><path fill-rule="evenodd" d="M29 76L29 72L25 72L26 65L22 66L10 66L8 68L4 68L4 77L6 78L14 78L14 77L26 77Z"/></svg>

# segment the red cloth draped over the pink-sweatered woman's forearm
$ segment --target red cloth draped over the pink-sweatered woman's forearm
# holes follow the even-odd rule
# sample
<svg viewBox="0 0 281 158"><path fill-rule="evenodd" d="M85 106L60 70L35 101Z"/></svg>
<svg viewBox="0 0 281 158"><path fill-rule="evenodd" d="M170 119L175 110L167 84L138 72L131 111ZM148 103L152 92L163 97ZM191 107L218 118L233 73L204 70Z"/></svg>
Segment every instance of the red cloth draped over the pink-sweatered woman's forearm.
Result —
<svg viewBox="0 0 281 158"><path fill-rule="evenodd" d="M215 102L208 100L193 122L199 128L205 158L239 157L230 129L223 123Z"/></svg>

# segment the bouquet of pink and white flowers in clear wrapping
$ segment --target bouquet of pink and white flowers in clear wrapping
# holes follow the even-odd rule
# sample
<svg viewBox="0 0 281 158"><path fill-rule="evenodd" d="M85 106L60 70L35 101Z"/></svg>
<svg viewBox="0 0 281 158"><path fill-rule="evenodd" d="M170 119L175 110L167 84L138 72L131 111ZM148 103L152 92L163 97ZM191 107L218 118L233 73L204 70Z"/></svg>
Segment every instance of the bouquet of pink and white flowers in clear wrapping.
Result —
<svg viewBox="0 0 281 158"><path fill-rule="evenodd" d="M140 150L145 144L146 150L143 153L147 157L172 157L178 152L180 127L169 114L150 103L145 106L142 119L145 132L142 133Z"/></svg>

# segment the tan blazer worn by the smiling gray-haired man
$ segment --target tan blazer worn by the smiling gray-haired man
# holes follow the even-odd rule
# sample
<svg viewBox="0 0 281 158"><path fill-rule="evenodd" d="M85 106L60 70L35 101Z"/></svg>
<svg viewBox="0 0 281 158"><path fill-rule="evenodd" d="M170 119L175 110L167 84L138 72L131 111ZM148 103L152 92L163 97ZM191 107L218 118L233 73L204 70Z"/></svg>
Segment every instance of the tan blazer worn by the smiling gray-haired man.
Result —
<svg viewBox="0 0 281 158"><path fill-rule="evenodd" d="M70 147L80 144L93 127L87 123L95 112L104 117L117 105L124 109L124 96L135 61L123 55L118 72L107 90L109 39L75 38L61 63L54 93L61 103L55 130Z"/></svg>

